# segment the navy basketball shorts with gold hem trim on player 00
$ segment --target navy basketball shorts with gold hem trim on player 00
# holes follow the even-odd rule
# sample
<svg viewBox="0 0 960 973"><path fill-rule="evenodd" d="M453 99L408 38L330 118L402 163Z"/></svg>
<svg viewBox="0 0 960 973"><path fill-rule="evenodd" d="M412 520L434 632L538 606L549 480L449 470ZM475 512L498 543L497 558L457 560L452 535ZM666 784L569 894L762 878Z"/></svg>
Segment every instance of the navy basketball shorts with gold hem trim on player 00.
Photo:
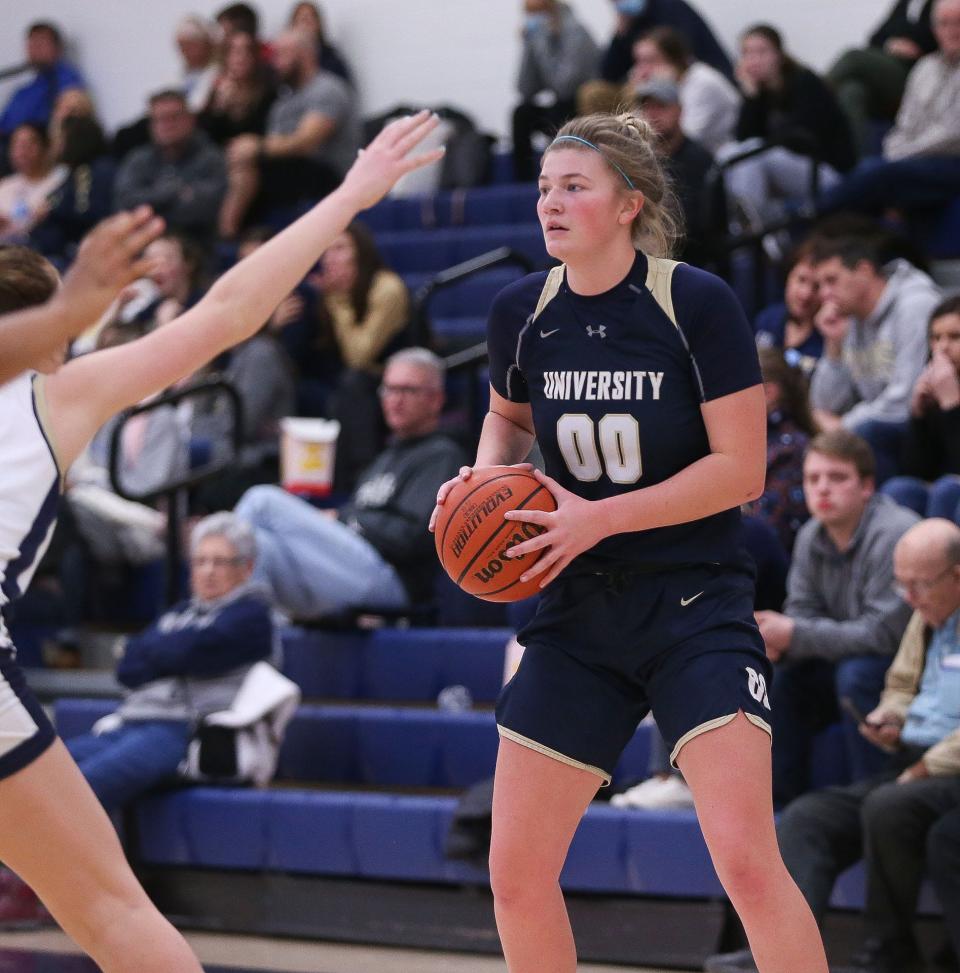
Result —
<svg viewBox="0 0 960 973"><path fill-rule="evenodd" d="M753 576L685 565L583 574L543 593L497 701L501 737L610 783L652 710L676 766L681 748L739 712L771 733L771 667L753 619Z"/></svg>

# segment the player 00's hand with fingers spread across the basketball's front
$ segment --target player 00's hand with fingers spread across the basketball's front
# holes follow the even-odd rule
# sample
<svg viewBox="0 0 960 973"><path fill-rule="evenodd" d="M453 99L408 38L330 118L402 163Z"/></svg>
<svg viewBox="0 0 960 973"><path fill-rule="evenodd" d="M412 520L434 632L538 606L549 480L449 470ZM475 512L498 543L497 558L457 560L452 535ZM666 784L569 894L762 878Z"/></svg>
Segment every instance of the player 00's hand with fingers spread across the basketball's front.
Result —
<svg viewBox="0 0 960 973"><path fill-rule="evenodd" d="M565 490L556 480L540 470L533 475L550 491L557 501L557 509L508 510L507 520L520 520L527 524L545 527L544 533L507 550L510 557L543 551L529 571L520 576L521 581L542 575L540 587L545 588L578 555L588 551L607 536L603 518L597 516L597 505ZM544 550L547 548L547 550Z"/></svg>

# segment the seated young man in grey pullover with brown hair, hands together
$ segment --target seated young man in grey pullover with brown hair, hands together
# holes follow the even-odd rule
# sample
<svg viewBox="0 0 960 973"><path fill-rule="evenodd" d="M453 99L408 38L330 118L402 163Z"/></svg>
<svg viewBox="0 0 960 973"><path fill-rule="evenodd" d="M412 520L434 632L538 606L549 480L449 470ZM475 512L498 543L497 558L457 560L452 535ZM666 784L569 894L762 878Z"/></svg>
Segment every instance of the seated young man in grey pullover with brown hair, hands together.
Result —
<svg viewBox="0 0 960 973"><path fill-rule="evenodd" d="M876 706L910 614L894 588L893 548L918 519L874 492L870 447L845 429L811 441L803 490L812 516L797 534L784 611L757 613L776 664L770 703L778 804L806 789L813 735L837 718L839 701L849 696L865 713ZM878 770L882 755L846 715L843 731L853 778Z"/></svg>

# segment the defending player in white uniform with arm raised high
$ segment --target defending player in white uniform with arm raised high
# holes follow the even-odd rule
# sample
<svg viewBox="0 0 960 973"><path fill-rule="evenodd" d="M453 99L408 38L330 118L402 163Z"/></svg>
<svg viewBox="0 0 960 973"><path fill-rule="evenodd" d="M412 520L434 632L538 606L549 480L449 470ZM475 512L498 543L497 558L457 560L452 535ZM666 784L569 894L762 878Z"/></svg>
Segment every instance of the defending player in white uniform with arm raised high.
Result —
<svg viewBox="0 0 960 973"><path fill-rule="evenodd" d="M257 331L359 210L440 158L439 151L408 157L436 123L422 112L389 125L338 189L176 321L65 365L60 347L0 385L0 604L28 587L52 533L63 475L104 422ZM30 291L17 287L24 275L35 283ZM42 257L16 248L0 265L0 313L40 306L57 285ZM26 686L2 622L0 695L0 860L105 973L200 973L140 887L109 818Z"/></svg>

